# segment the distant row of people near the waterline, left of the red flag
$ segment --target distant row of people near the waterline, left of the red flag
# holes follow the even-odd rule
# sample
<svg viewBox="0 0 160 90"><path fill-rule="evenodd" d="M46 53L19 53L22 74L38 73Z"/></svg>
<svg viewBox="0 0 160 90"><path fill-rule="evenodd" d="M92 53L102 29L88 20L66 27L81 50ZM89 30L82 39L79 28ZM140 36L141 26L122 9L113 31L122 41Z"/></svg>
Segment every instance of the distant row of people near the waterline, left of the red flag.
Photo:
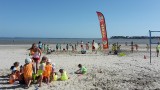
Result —
<svg viewBox="0 0 160 90"><path fill-rule="evenodd" d="M95 47L96 44L96 47ZM92 49L92 52L96 50L102 50L102 45L100 43L96 43L94 40L90 44L90 42L84 43L81 41L80 43L64 43L63 45L61 43L57 43L55 45L55 48L51 48L49 44L44 44L42 42L38 43L38 47L43 51L43 53L50 54L52 52L56 51L69 51L71 50L72 52L77 51L77 48L80 46L80 51L86 51Z"/></svg>

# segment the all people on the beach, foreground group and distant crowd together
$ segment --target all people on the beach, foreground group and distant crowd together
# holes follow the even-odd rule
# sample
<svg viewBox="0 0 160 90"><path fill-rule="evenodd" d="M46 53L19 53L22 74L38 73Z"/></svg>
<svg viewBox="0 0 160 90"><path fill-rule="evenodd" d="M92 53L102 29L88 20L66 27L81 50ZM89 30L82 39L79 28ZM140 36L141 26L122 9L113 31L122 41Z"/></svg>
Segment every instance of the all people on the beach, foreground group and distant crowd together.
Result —
<svg viewBox="0 0 160 90"><path fill-rule="evenodd" d="M92 49L92 52L96 52L97 49L102 50L101 44L98 43L97 46L93 40L92 46L90 47L90 43L87 42L84 44L82 41L80 43L81 52ZM25 84L25 88L29 88L31 84L38 84L39 87L42 86L42 82L49 84L54 81L66 81L71 77L68 76L67 71L64 68L59 68L58 72L56 72L56 64L52 62L47 56L42 56L42 53L49 54L51 52L56 51L68 51L69 47L71 47L72 51L77 50L77 44L66 44L65 48L62 48L61 44L56 44L56 50L53 50L47 44L43 44L39 42L38 44L32 44L31 48L29 48L29 56L24 59L25 64L20 66L19 62L14 62L13 66L10 67L11 73L9 75L9 83L14 84L18 81L20 84ZM126 44L127 46L127 44ZM133 44L131 42L131 52L133 52L134 48L138 51L138 44ZM121 45L118 43L113 43L111 47L111 52L117 55L121 51ZM149 50L149 45L146 45L147 51ZM158 43L157 57L159 54L160 45ZM82 53L82 54L84 54ZM79 70L74 70L75 74L86 74L87 68L82 64L77 65Z"/></svg>

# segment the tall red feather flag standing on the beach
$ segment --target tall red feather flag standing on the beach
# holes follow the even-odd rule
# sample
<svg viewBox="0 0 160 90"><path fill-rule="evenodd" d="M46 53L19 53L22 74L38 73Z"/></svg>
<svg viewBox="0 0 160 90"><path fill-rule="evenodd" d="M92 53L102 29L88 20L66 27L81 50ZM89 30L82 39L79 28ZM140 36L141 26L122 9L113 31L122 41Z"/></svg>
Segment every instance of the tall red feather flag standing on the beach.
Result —
<svg viewBox="0 0 160 90"><path fill-rule="evenodd" d="M107 38L107 31L106 31L106 24L105 24L105 18L101 12L97 12L98 19L100 22L100 28L101 28L101 34L102 34L102 43L103 43L103 49L108 49L108 38Z"/></svg>

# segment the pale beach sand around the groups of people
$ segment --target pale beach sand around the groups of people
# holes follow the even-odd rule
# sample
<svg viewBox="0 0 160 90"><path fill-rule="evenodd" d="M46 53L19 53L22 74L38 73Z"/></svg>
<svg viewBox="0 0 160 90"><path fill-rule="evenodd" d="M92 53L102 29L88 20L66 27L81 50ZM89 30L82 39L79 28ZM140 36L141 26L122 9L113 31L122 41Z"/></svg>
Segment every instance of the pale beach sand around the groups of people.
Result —
<svg viewBox="0 0 160 90"><path fill-rule="evenodd" d="M30 46L0 45L0 90L24 89L24 85L8 84L7 75L15 61L24 65L24 60L29 53L27 49ZM55 45L50 46L55 47ZM53 81L49 85L43 83L40 88L37 84L32 84L29 90L158 90L160 89L160 57L156 57L155 47L153 47L152 63L150 63L149 51L146 51L145 47L139 45L139 50L131 53L130 46L122 45L121 50L126 53L123 57L108 55L102 51L95 54L91 50L87 51L87 54L71 51L53 52L48 55L43 53L42 56L47 56L56 64L56 72L63 68L70 79ZM80 63L87 67L86 75L74 74Z"/></svg>

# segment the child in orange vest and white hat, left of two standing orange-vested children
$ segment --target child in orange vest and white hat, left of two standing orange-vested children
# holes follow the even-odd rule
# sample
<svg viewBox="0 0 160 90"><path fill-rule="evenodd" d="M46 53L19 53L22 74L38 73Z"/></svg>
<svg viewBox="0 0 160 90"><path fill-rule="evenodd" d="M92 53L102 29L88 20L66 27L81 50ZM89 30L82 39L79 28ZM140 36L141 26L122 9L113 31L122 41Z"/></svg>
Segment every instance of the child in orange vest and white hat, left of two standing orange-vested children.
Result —
<svg viewBox="0 0 160 90"><path fill-rule="evenodd" d="M31 58L25 59L25 65L23 67L23 75L26 83L26 89L29 88L32 80L33 63Z"/></svg>

